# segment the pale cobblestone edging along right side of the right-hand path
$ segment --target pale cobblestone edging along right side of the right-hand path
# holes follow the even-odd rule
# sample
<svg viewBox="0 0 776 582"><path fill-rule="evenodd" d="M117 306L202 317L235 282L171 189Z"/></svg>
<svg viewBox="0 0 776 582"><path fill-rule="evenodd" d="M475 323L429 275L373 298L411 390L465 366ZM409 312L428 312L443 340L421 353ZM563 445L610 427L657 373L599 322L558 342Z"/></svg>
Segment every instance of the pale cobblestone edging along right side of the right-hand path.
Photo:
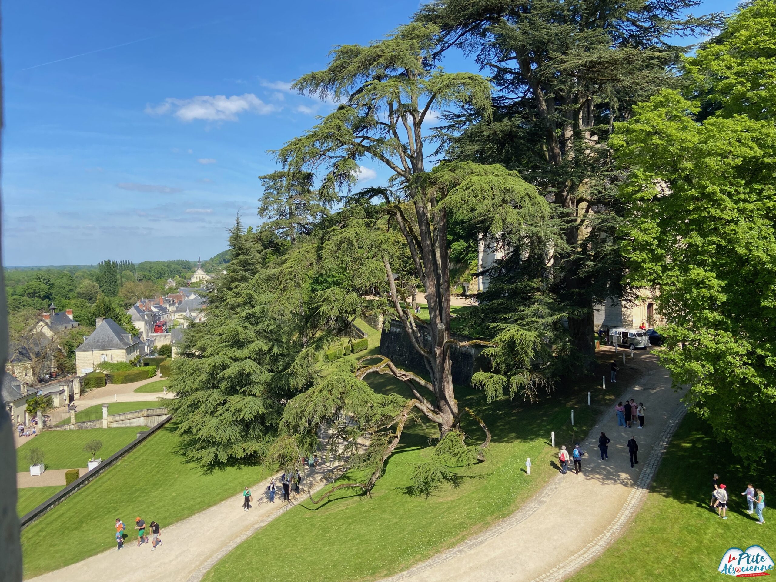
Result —
<svg viewBox="0 0 776 582"><path fill-rule="evenodd" d="M657 472L657 467L660 466L660 460L663 459L663 453L666 452L671 436L674 435L674 431L681 423L681 419L686 412L687 407L681 404L670 417L665 428L663 428L663 433L660 435L660 441L652 449L650 458L646 461L646 466L636 482L636 487L633 488L628 496L628 500L625 501L625 505L622 506L617 517L606 528L605 532L587 544L587 546L584 546L583 549L580 549L579 552L571 556L566 562L559 564L548 573L534 578L533 582L559 582L559 580L563 580L565 577L570 576L570 574L580 570L582 566L586 566L588 563L598 559L598 556L604 553L609 544L619 537L630 518L636 514L636 511L638 511L646 499L646 494L650 491L650 483L652 483L653 477Z"/></svg>

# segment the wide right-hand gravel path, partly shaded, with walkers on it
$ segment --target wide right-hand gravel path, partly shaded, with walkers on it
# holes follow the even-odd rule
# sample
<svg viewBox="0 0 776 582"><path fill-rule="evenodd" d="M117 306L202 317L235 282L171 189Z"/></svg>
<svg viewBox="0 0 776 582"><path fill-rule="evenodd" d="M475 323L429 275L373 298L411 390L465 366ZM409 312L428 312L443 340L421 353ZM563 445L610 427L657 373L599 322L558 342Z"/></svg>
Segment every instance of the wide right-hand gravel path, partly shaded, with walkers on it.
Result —
<svg viewBox="0 0 776 582"><path fill-rule="evenodd" d="M645 404L643 429L618 427L612 409L582 443L587 453L582 473L557 475L510 517L383 582L554 582L596 559L639 510L684 415L682 393L671 389L667 370L647 358L652 360L647 372L623 396ZM608 460L601 460L598 450L601 431L611 438ZM640 459L633 469L626 446L631 435Z"/></svg>

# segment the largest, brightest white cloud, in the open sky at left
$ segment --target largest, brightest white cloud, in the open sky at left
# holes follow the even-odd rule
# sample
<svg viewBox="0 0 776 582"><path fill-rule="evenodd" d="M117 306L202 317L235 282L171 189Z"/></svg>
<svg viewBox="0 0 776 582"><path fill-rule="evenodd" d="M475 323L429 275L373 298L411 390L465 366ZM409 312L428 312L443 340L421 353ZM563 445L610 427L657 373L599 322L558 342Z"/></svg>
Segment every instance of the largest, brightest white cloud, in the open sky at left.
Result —
<svg viewBox="0 0 776 582"><path fill-rule="evenodd" d="M244 95L199 95L191 99L175 99L168 97L157 106L147 105L148 115L173 115L178 120L189 122L204 121L237 121L237 115L245 112L266 115L278 111L278 107L258 99L253 93Z"/></svg>

